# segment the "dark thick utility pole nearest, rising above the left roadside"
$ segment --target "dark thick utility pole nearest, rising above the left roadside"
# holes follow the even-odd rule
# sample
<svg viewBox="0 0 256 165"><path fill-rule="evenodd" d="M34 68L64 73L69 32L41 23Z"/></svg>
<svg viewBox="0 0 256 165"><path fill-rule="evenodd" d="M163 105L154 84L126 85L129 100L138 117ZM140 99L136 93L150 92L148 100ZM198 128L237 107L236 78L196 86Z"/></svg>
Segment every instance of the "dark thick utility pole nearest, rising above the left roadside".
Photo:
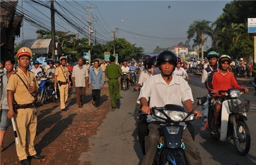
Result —
<svg viewBox="0 0 256 165"><path fill-rule="evenodd" d="M54 0L51 0L51 27L52 27L52 60L55 61L55 9L53 5Z"/></svg>

